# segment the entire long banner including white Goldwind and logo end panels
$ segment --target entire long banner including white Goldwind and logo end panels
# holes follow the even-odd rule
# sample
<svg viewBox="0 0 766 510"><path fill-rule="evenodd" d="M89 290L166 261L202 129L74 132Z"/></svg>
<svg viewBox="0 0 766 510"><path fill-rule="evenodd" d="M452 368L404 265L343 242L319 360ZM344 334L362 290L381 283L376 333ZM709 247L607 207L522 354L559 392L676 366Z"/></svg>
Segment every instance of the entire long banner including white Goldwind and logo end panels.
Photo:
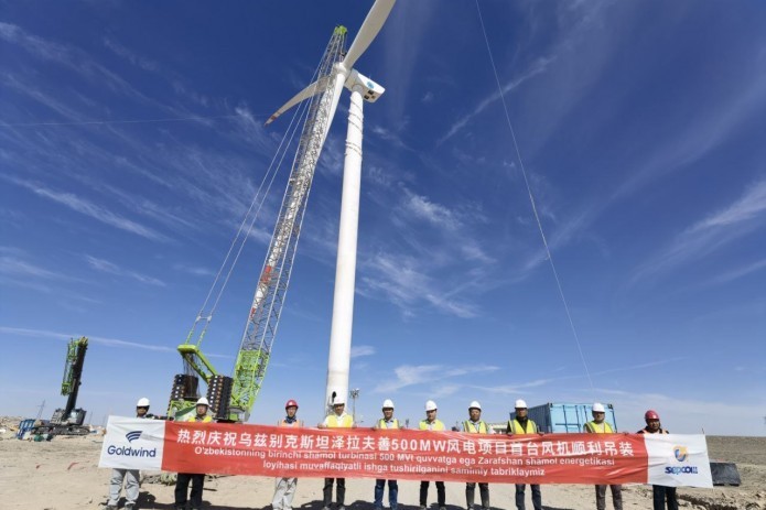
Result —
<svg viewBox="0 0 766 510"><path fill-rule="evenodd" d="M110 417L99 466L158 465L169 471L273 477L712 487L706 444L698 435L477 437L460 432L285 430Z"/></svg>

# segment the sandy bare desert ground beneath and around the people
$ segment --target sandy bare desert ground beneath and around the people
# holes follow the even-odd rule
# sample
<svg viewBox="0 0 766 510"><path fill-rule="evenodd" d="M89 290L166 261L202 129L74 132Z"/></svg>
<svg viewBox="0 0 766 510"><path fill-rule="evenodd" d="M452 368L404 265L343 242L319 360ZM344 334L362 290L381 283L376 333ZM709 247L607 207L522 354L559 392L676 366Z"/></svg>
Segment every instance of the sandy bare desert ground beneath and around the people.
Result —
<svg viewBox="0 0 766 510"><path fill-rule="evenodd" d="M7 423L12 423L13 419ZM15 421L18 424L18 420ZM99 509L106 502L110 469L98 468L103 437L56 437L52 442L19 441L11 431L0 441L0 508L3 510L76 510ZM681 508L729 510L766 509L766 437L709 436L710 457L736 463L742 478L740 487L713 489L680 488ZM143 510L173 508L173 487L159 481L159 474L142 473L139 508ZM346 481L348 510L373 510L370 479ZM465 486L446 484L449 510L465 508ZM477 491L478 492L478 491ZM529 490L527 491L529 498ZM205 509L270 510L273 479L262 477L212 476L205 484ZM478 497L478 493L476 495ZM626 486L625 509L650 509L648 486ZM494 509L513 510L514 486L492 485ZM435 488L429 501L435 509ZM121 501L123 502L123 500ZM418 509L418 482L399 482L399 507ZM594 509L592 486L542 486L543 507L549 510ZM301 479L293 502L298 510L322 508L322 480ZM531 501L527 503L531 508ZM607 508L612 508L611 501Z"/></svg>

